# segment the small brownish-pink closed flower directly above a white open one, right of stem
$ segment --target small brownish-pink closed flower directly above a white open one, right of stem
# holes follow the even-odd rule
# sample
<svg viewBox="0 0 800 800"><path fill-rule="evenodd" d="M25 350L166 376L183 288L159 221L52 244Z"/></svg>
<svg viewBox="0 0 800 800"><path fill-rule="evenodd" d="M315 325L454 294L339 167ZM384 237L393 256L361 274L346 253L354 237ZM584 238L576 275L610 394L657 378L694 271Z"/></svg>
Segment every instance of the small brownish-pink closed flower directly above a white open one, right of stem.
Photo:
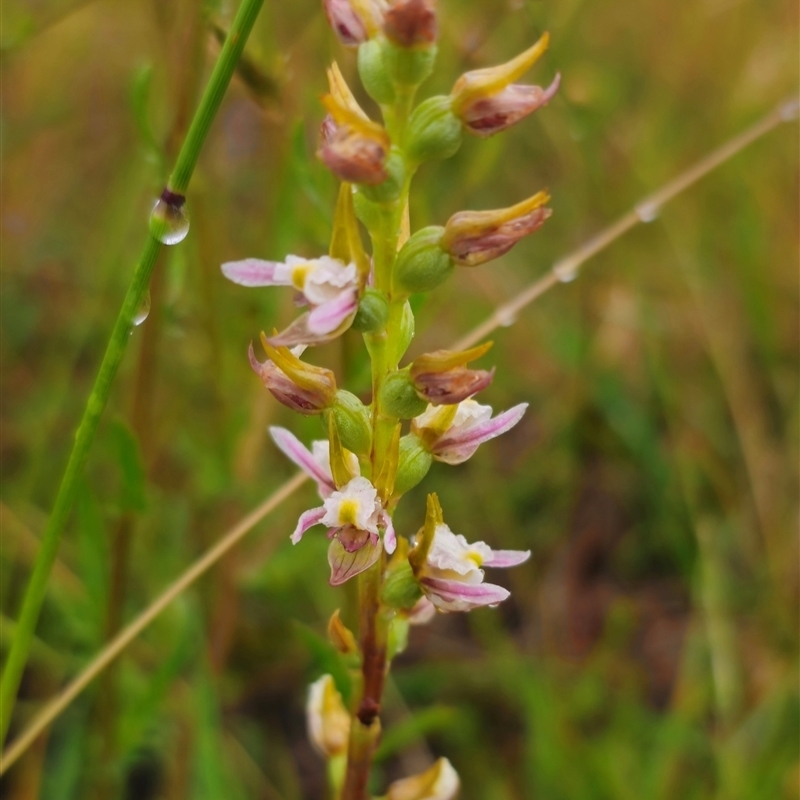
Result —
<svg viewBox="0 0 800 800"><path fill-rule="evenodd" d="M466 365L480 358L491 346L492 343L487 342L471 350L437 350L419 356L409 371L417 397L434 406L450 405L485 389L494 378L494 369L487 372L467 369Z"/></svg>

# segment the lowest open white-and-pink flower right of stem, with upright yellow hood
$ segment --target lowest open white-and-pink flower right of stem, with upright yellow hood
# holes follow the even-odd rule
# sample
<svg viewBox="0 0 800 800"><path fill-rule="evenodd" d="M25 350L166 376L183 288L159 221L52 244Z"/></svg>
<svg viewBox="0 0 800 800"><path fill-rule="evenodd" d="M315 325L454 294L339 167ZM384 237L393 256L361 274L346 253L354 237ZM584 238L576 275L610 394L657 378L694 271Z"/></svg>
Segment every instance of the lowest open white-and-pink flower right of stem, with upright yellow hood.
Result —
<svg viewBox="0 0 800 800"><path fill-rule="evenodd" d="M430 494L425 525L408 560L420 588L439 611L470 611L496 606L510 596L502 586L484 583L481 567L514 567L530 555L530 550L492 550L484 542L470 544L445 525L439 499Z"/></svg>

